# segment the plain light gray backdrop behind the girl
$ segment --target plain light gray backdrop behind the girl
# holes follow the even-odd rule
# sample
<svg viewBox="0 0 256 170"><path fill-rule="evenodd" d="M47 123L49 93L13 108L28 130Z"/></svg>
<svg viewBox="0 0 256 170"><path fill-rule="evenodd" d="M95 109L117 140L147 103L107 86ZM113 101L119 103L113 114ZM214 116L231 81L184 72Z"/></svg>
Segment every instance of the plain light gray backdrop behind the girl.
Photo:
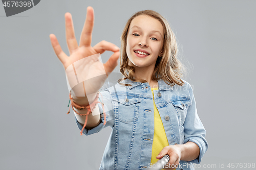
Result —
<svg viewBox="0 0 256 170"><path fill-rule="evenodd" d="M189 72L184 79L194 87L207 131L201 165L256 163L255 1L48 0L11 17L0 7L0 169L99 168L111 128L80 136L73 111L66 114L65 69L49 38L55 34L69 55L64 15L72 14L79 42L88 6L95 11L92 46L106 40L120 47L122 29L137 11L162 14L178 40ZM101 55L103 62L111 54Z"/></svg>

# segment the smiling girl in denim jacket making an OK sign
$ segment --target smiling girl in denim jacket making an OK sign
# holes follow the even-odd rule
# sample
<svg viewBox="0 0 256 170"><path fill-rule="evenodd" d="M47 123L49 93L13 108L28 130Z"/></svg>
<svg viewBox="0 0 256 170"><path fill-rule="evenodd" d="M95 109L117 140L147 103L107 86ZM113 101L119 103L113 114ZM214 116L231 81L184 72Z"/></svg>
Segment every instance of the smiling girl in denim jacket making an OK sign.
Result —
<svg viewBox="0 0 256 170"><path fill-rule="evenodd" d="M106 41L91 46L92 7L87 8L79 45L70 13L65 14L65 20L70 56L61 50L55 35L50 35L55 54L65 70L81 59L90 59L105 51L114 52L103 64L105 77L87 81L88 86L83 82L83 87L90 87L84 88L85 94L91 94L90 98L76 95L75 88L70 90L76 105L88 106L95 101L95 92L121 56L123 78L115 86L101 90L96 99L104 105L95 105L93 114L88 116L80 115L86 114L88 109L73 108L82 133L90 135L107 126L112 128L100 169L146 169L166 154L170 159L163 169L194 169L192 163L200 163L208 148L206 131L197 114L193 90L181 79L182 64L176 56L176 38L167 20L152 10L137 12L123 30L121 50ZM83 65L84 68L90 66L82 72L88 78L89 72L102 70L100 62L84 62Z"/></svg>

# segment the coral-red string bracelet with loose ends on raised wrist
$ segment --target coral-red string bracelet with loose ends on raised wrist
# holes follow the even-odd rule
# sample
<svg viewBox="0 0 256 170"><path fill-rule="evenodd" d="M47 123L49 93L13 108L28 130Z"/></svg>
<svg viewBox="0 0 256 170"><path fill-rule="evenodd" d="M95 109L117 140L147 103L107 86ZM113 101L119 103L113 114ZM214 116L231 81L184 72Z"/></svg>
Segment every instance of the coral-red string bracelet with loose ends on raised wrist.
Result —
<svg viewBox="0 0 256 170"><path fill-rule="evenodd" d="M90 108L90 104L87 105L87 106L79 106L79 105L75 104L75 103L73 102L72 97L71 97L71 91L70 91L70 93L69 93L69 99L70 99L70 100L69 100L69 104L70 104L70 101L71 101L70 107L72 106L72 109L73 109L74 111L75 111L74 108L76 108L76 109L78 109L78 110L87 109L87 113L86 113L86 114L80 114L80 113L78 113L77 111L75 111L77 114L79 114L79 115L81 115L81 116L85 116L85 115L86 115L86 121L84 122L84 125L83 125L83 128L82 128L81 132L80 132L80 135L82 135L82 131L83 131L83 129L86 127L87 119L88 119L87 116L88 116L89 114L91 114L92 111L96 108L97 103L101 103L101 105L102 105L102 110L103 110L103 114L104 114L104 124L103 124L103 125L106 124L106 113L105 113L105 109L104 109L104 103L97 101L97 99L99 98L99 93L100 93L100 92L98 91L98 92L97 92L97 95L96 95L96 98L94 99L93 103L91 104L91 105L94 105L92 110L91 110L91 108ZM102 94L100 93L100 95L101 95L101 101L103 101ZM69 105L68 105L68 107L69 107ZM70 107L69 107L69 111L68 111L67 114L70 113Z"/></svg>

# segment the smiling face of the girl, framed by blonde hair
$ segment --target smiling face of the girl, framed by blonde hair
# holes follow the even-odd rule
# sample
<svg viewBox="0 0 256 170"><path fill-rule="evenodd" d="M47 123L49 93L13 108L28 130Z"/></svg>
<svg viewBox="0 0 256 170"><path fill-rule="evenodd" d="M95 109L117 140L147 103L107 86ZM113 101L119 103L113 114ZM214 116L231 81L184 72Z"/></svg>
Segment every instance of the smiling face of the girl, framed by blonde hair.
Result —
<svg viewBox="0 0 256 170"><path fill-rule="evenodd" d="M129 65L154 69L163 47L163 36L160 21L147 15L135 17L127 31L126 53ZM144 53L138 54L139 51Z"/></svg>

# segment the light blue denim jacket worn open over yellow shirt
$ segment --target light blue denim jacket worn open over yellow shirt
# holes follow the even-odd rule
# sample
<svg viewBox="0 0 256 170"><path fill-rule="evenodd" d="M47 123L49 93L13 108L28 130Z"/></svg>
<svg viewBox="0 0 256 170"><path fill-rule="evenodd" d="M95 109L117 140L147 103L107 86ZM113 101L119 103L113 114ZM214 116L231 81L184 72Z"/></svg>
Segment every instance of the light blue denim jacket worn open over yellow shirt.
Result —
<svg viewBox="0 0 256 170"><path fill-rule="evenodd" d="M183 80L184 81L184 80ZM146 169L150 166L154 137L154 103L148 83L129 79L100 91L103 96L106 124L102 105L98 103L101 123L83 134L91 135L110 126L112 128L99 170ZM180 161L176 170L195 169L193 163L200 163L208 149L206 131L197 114L196 101L190 84L170 86L158 80L159 88L154 90L156 107L162 119L169 145L195 142L200 155L192 161ZM101 102L101 95L99 95ZM82 126L76 119L78 128Z"/></svg>

